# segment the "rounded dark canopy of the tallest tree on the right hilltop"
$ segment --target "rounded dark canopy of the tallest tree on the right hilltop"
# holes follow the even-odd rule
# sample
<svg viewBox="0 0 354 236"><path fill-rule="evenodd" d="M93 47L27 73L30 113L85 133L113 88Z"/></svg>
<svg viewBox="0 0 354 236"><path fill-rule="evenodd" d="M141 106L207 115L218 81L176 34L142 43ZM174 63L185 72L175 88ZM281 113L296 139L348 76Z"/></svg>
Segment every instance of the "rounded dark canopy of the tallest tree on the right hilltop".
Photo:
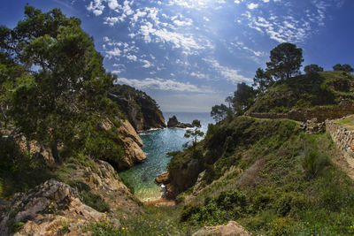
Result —
<svg viewBox="0 0 354 236"><path fill-rule="evenodd" d="M271 50L270 62L266 63L266 71L276 80L289 79L300 74L303 63L303 49L295 44L283 42Z"/></svg>

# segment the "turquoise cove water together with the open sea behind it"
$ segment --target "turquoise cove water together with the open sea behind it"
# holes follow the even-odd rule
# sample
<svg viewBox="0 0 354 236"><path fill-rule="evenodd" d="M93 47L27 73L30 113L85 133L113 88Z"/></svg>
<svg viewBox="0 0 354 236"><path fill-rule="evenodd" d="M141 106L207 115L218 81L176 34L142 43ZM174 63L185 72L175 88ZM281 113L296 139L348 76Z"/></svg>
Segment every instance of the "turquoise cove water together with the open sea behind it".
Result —
<svg viewBox="0 0 354 236"><path fill-rule="evenodd" d="M166 121L173 115L181 122L191 123L193 119L199 119L204 132L207 130L208 123L212 123L209 112L164 112ZM185 132L186 129L165 128L140 133L144 143L142 150L148 156L146 161L127 171L119 172L119 176L135 188L135 195L140 200L149 201L160 197L161 187L154 182L154 179L158 174L166 171L167 164L171 160L166 153L181 150L182 145L188 141L184 138Z"/></svg>

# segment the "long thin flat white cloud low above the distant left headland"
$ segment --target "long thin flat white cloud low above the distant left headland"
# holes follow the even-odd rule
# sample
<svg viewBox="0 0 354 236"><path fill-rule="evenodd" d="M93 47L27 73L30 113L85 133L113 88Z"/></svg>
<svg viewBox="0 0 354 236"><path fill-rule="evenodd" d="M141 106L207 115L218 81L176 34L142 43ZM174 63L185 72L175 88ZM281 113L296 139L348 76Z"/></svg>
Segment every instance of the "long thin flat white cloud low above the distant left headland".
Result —
<svg viewBox="0 0 354 236"><path fill-rule="evenodd" d="M189 83L182 83L175 80L151 79L135 80L127 78L119 78L116 82L127 84L138 89L154 89L165 91L179 91L179 92L192 92L192 93L205 93L211 92L205 88L198 88L196 85Z"/></svg>

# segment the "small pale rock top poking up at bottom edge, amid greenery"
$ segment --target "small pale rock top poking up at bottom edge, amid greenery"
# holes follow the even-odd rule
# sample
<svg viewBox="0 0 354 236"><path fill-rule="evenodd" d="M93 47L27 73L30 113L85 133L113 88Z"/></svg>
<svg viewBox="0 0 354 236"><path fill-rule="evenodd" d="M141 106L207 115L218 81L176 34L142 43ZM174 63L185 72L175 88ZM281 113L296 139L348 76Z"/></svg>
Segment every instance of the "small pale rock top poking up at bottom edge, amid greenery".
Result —
<svg viewBox="0 0 354 236"><path fill-rule="evenodd" d="M250 236L252 235L252 233L243 229L242 225L238 224L237 222L229 221L227 225L207 226L193 233L193 236L205 236L205 235Z"/></svg>

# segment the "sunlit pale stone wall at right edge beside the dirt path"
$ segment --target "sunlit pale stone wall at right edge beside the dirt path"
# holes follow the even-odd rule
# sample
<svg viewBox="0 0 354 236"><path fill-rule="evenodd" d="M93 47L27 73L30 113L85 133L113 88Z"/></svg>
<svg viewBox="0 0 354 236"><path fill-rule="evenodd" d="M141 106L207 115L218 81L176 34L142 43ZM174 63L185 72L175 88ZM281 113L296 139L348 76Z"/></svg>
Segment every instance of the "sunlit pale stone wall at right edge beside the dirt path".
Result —
<svg viewBox="0 0 354 236"><path fill-rule="evenodd" d="M332 120L326 120L326 130L331 134L332 140L342 151L350 167L354 168L354 131L349 131Z"/></svg>

